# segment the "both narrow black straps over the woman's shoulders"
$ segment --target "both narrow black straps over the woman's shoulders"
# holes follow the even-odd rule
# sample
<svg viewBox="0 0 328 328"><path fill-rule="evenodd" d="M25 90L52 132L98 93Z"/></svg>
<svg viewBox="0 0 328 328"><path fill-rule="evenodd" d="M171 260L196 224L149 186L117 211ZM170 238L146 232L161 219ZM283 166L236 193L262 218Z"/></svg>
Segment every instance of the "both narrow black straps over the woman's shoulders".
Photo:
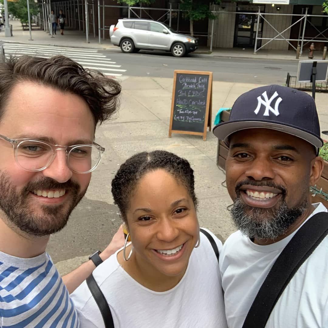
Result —
<svg viewBox="0 0 328 328"><path fill-rule="evenodd" d="M207 237L207 239L210 241L212 248L214 250L215 256L217 258L217 261L219 261L219 250L217 248L217 245L215 243L214 238L204 229L200 229L200 231ZM98 308L101 312L101 315L104 319L105 327L106 328L114 328L114 322L113 317L111 313L111 309L109 308L109 305L107 303L107 300L100 290L97 282L95 281L92 274L87 278L87 285L90 289L90 292L96 301Z"/></svg>

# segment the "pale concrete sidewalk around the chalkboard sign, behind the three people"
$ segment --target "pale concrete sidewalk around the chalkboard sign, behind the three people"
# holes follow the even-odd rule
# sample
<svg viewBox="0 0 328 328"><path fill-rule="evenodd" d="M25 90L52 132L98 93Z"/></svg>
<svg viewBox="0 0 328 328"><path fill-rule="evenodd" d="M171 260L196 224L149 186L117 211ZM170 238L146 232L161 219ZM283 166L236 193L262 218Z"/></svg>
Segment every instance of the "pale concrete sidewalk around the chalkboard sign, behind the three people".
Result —
<svg viewBox="0 0 328 328"><path fill-rule="evenodd" d="M173 78L124 77L119 115L96 132L96 142L106 148L93 172L84 200L73 211L68 226L51 236L48 252L61 273L70 272L111 240L121 220L113 205L111 179L128 157L140 151L164 149L187 158L195 170L200 226L222 241L234 230L227 207L232 201L224 187L225 175L216 166L217 139L194 135L168 137ZM241 93L259 85L213 82L213 115L231 107ZM328 130L327 94L316 95L322 130ZM323 138L327 136L322 135Z"/></svg>

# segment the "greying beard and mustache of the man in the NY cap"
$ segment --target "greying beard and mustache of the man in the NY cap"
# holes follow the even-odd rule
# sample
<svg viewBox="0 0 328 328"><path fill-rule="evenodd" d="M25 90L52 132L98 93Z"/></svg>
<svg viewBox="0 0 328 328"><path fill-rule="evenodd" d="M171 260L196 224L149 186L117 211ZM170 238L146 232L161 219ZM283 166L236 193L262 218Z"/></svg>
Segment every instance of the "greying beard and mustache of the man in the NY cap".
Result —
<svg viewBox="0 0 328 328"><path fill-rule="evenodd" d="M243 184L269 186L281 190L281 201L273 208L252 207L244 203L240 196L240 186ZM258 239L276 239L286 233L288 228L304 214L309 201L304 193L299 204L289 208L286 203L286 188L273 183L258 184L252 181L242 181L236 187L237 198L231 209L232 219L244 236Z"/></svg>

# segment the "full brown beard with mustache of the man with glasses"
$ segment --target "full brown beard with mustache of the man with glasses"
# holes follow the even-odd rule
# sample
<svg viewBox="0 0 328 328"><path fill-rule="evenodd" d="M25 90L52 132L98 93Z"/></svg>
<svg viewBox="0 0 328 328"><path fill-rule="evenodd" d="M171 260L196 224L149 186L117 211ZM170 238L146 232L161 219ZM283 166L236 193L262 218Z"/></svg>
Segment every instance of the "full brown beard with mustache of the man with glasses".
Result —
<svg viewBox="0 0 328 328"><path fill-rule="evenodd" d="M88 187L87 187L88 188ZM85 195L87 188L80 191L77 182L68 180L65 183L46 177L29 182L20 192L10 182L5 172L0 172L0 210L5 214L7 224L30 236L48 236L62 230L72 210ZM41 205L42 214L33 213L29 195L33 190L61 190L69 193L69 204Z"/></svg>

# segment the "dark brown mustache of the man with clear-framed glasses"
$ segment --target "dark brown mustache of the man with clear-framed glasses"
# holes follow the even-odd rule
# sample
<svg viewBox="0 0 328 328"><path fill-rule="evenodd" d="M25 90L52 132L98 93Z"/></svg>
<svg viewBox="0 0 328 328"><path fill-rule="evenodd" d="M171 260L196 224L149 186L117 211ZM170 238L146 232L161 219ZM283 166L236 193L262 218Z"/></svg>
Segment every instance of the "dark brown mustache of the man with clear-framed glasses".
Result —
<svg viewBox="0 0 328 328"><path fill-rule="evenodd" d="M30 181L22 190L23 194L28 194L30 191L33 190L61 190L65 189L66 191L69 190L80 190L80 185L73 181L68 180L64 183L59 183L58 181L51 179L49 177L39 178L35 181Z"/></svg>

